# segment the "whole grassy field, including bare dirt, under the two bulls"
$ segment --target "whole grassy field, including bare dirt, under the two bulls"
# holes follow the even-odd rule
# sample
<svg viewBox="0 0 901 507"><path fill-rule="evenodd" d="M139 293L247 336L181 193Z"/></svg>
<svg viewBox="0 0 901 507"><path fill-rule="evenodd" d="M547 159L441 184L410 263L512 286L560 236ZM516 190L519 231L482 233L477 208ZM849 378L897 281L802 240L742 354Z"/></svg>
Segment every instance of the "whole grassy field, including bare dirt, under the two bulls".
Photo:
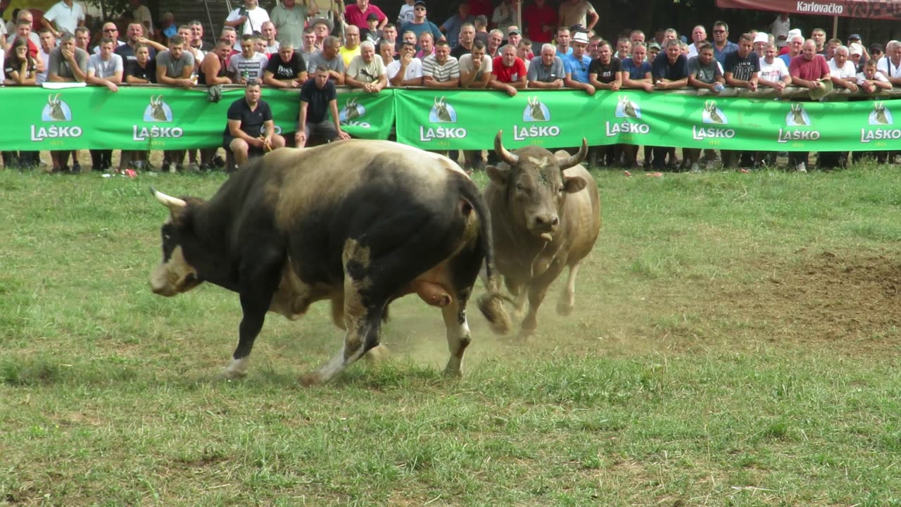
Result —
<svg viewBox="0 0 901 507"><path fill-rule="evenodd" d="M400 300L392 359L312 389L327 306L223 382L237 297L150 293L148 186L223 179L0 171L0 505L901 505L896 168L599 172L572 316L558 283L523 345L471 309L451 380Z"/></svg>

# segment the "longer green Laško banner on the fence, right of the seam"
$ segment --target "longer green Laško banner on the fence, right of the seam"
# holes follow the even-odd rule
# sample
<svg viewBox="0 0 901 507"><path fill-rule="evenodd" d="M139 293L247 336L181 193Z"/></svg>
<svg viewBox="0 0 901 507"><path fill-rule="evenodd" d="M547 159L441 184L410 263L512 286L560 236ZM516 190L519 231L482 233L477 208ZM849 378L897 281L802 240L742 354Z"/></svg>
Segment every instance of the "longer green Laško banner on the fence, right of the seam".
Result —
<svg viewBox="0 0 901 507"><path fill-rule="evenodd" d="M897 149L901 101L789 102L635 91L401 90L397 140L426 150L615 143L727 150Z"/></svg>

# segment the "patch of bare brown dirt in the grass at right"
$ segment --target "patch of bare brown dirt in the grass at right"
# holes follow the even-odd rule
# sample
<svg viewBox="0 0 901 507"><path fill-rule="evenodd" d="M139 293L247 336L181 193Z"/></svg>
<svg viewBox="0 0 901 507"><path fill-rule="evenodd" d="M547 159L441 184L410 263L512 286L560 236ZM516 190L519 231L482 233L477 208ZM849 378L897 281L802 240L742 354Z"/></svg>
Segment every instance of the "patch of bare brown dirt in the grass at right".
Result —
<svg viewBox="0 0 901 507"><path fill-rule="evenodd" d="M748 266L760 271L760 281L714 290L713 306L702 314L746 322L751 332L771 341L861 350L901 344L901 260L853 251L798 255L804 260L767 259Z"/></svg>

